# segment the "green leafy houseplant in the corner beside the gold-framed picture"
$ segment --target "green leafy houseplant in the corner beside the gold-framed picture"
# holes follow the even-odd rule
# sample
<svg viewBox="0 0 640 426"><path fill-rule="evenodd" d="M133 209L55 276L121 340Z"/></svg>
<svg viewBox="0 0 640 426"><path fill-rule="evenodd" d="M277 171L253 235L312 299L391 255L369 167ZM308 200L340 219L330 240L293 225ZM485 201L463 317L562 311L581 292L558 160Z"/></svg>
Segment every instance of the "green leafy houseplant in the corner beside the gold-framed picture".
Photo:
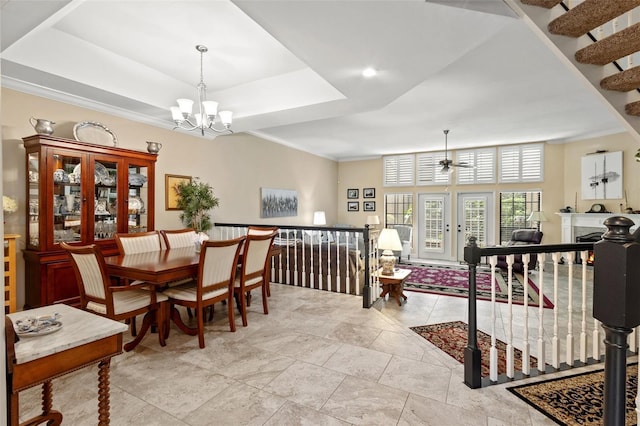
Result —
<svg viewBox="0 0 640 426"><path fill-rule="evenodd" d="M209 231L213 227L209 210L220 205L211 185L198 179L182 181L176 185L176 193L182 223L198 233Z"/></svg>

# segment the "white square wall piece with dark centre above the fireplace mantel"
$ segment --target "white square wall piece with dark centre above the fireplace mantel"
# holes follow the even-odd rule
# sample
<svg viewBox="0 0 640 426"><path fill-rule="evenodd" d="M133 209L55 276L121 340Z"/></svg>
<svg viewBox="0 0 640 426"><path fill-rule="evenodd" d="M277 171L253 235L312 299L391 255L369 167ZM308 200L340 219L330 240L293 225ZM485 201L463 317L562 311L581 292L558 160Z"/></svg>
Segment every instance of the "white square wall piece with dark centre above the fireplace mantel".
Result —
<svg viewBox="0 0 640 426"><path fill-rule="evenodd" d="M623 198L622 151L582 157L581 178L583 200Z"/></svg>

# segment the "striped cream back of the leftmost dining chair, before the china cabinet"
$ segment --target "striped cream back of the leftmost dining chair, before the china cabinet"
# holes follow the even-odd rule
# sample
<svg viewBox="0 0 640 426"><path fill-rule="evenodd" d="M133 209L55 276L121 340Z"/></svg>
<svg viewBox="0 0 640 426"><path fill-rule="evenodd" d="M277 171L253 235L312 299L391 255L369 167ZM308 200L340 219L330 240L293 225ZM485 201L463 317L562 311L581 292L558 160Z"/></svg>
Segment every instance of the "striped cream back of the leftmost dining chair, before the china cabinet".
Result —
<svg viewBox="0 0 640 426"><path fill-rule="evenodd" d="M109 277L100 248L95 244L88 246L71 246L60 243L60 247L69 253L71 264L76 274L80 291L82 309L106 314L108 306L113 309L111 294L106 290Z"/></svg>

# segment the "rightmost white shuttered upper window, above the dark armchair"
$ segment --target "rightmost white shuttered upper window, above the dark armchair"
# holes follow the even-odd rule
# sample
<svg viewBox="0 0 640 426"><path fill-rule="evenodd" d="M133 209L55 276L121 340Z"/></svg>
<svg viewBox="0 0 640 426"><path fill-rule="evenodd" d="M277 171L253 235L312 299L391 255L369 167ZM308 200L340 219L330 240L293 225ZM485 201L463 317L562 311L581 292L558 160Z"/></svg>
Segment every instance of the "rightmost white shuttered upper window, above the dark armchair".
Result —
<svg viewBox="0 0 640 426"><path fill-rule="evenodd" d="M542 182L544 145L500 147L500 182Z"/></svg>

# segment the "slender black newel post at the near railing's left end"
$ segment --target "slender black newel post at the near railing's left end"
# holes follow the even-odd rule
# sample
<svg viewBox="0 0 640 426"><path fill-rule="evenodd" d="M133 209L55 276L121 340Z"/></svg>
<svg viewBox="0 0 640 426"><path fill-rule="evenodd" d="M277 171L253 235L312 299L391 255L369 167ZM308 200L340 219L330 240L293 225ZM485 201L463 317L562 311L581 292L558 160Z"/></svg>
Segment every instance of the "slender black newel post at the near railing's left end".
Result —
<svg viewBox="0 0 640 426"><path fill-rule="evenodd" d="M476 237L469 237L469 245L464 248L464 260L469 265L469 336L464 349L464 383L471 389L477 389L482 386L482 354L477 337L476 268L480 263L480 247L476 244Z"/></svg>

